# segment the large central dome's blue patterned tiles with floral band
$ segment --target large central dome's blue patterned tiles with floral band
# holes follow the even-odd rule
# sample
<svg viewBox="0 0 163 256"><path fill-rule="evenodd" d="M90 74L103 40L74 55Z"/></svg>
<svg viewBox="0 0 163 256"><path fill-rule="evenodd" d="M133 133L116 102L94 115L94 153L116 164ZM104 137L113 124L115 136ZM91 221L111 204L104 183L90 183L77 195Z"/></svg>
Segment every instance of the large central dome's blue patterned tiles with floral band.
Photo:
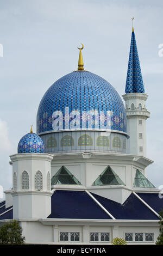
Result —
<svg viewBox="0 0 163 256"><path fill-rule="evenodd" d="M107 127L126 132L123 102L110 83L88 71L71 72L52 84L37 111L37 133Z"/></svg>

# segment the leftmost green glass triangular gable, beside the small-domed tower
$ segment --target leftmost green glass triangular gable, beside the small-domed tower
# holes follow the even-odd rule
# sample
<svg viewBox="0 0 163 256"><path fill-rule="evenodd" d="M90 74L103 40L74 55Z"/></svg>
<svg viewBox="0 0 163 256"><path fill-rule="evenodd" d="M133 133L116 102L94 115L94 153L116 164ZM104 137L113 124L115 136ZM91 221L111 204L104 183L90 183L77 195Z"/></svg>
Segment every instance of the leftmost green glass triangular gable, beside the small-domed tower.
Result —
<svg viewBox="0 0 163 256"><path fill-rule="evenodd" d="M74 184L74 185L81 185L80 181L69 172L69 170L62 166L57 173L51 179L51 185L56 184Z"/></svg>

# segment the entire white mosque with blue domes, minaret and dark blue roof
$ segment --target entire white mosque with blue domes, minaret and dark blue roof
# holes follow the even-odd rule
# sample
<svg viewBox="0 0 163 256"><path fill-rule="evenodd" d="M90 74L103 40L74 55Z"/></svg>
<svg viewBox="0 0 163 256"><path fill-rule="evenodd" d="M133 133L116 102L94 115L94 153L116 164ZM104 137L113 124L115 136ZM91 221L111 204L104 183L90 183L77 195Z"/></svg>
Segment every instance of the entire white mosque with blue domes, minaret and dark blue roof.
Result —
<svg viewBox="0 0 163 256"><path fill-rule="evenodd" d="M154 244L163 198L147 178L146 108L134 28L125 94L78 70L54 82L31 130L10 156L12 188L0 203L0 224L16 219L26 243Z"/></svg>

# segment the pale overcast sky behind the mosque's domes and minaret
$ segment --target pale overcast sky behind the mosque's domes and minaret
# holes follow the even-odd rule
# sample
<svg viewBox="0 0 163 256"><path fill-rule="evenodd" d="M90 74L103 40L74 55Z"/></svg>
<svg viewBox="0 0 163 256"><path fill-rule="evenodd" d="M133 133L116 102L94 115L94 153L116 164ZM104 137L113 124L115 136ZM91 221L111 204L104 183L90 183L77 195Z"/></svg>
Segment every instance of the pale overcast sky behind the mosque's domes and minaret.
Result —
<svg viewBox="0 0 163 256"><path fill-rule="evenodd" d="M139 51L146 102L148 178L163 185L163 1L0 0L0 185L12 187L9 155L20 138L36 132L36 113L46 90L77 70L80 42L84 68L124 94L131 17Z"/></svg>

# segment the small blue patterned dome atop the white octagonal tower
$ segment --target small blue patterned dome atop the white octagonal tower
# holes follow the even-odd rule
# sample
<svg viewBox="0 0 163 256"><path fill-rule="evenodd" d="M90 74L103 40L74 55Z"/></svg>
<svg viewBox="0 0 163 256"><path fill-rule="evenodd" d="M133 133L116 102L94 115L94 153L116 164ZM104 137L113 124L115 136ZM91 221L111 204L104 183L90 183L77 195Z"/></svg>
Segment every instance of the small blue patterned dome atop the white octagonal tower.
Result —
<svg viewBox="0 0 163 256"><path fill-rule="evenodd" d="M45 153L45 144L39 135L30 132L21 138L17 153Z"/></svg>

